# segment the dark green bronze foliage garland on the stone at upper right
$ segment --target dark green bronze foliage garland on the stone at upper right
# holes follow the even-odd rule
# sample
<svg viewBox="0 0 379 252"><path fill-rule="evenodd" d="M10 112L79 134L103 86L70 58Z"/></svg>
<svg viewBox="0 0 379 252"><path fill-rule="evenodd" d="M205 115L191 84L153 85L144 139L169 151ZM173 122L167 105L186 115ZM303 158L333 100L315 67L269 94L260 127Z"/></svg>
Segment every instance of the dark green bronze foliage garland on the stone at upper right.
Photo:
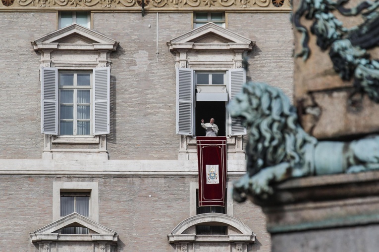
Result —
<svg viewBox="0 0 379 252"><path fill-rule="evenodd" d="M317 37L317 45L329 50L334 70L342 80L353 79L356 92L366 93L379 103L379 61L372 59L368 49L379 45L379 0L363 1L353 8L345 8L348 0L302 0L293 14L293 24L302 34L302 50L296 54L306 61L310 54L309 34L300 18L313 20L311 33ZM361 14L363 23L353 28L343 27L334 11L343 16Z"/></svg>

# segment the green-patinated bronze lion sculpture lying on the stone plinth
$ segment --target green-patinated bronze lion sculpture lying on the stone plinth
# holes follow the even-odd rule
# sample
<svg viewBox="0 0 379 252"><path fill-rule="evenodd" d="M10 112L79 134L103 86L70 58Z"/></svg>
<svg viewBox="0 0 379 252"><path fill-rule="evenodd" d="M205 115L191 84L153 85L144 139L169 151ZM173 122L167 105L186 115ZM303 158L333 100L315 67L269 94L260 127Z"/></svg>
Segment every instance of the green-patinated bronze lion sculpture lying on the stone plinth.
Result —
<svg viewBox="0 0 379 252"><path fill-rule="evenodd" d="M244 84L228 106L248 128L247 173L234 184L234 198L267 198L271 183L292 177L359 172L379 168L379 136L351 142L318 141L297 120L287 96L264 83Z"/></svg>

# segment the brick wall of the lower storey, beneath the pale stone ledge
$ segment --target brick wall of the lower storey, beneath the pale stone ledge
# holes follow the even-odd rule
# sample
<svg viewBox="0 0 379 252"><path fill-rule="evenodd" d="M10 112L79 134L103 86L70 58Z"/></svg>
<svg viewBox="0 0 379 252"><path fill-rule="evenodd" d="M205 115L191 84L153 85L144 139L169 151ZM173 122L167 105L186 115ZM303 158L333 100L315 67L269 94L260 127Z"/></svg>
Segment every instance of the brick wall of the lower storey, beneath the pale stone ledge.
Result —
<svg viewBox="0 0 379 252"><path fill-rule="evenodd" d="M53 221L53 181L97 181L99 223L119 234L117 252L173 251L167 234L189 215L196 177L0 177L0 251L35 252L29 233ZM152 197L149 197L151 195ZM265 218L250 202L234 217L257 234L251 251L269 252Z"/></svg>

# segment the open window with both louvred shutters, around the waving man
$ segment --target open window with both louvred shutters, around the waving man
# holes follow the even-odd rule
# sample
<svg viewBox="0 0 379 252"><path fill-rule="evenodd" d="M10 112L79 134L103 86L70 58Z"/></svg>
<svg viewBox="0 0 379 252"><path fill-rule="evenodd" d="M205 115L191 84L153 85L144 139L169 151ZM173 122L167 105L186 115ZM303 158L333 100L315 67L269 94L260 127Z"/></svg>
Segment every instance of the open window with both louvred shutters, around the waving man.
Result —
<svg viewBox="0 0 379 252"><path fill-rule="evenodd" d="M214 118L218 136L246 134L246 128L226 110L245 82L246 72L242 68L212 72L178 68L177 133L204 135L201 119L208 122Z"/></svg>

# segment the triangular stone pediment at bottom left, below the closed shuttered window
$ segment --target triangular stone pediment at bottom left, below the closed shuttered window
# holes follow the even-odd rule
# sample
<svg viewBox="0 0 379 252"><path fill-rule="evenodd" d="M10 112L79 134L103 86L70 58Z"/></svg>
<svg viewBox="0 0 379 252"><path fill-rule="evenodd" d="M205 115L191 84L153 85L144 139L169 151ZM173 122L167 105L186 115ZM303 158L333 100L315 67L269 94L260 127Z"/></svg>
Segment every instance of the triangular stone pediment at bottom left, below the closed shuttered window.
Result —
<svg viewBox="0 0 379 252"><path fill-rule="evenodd" d="M117 241L118 234L115 231L110 230L77 212L64 216L63 218L60 218L49 225L30 233L30 237L33 242L43 240L59 240L60 236L62 236L59 234L59 230L72 226L88 228L90 230L90 234L87 236L92 237L92 240ZM70 236L74 237L75 235Z"/></svg>

